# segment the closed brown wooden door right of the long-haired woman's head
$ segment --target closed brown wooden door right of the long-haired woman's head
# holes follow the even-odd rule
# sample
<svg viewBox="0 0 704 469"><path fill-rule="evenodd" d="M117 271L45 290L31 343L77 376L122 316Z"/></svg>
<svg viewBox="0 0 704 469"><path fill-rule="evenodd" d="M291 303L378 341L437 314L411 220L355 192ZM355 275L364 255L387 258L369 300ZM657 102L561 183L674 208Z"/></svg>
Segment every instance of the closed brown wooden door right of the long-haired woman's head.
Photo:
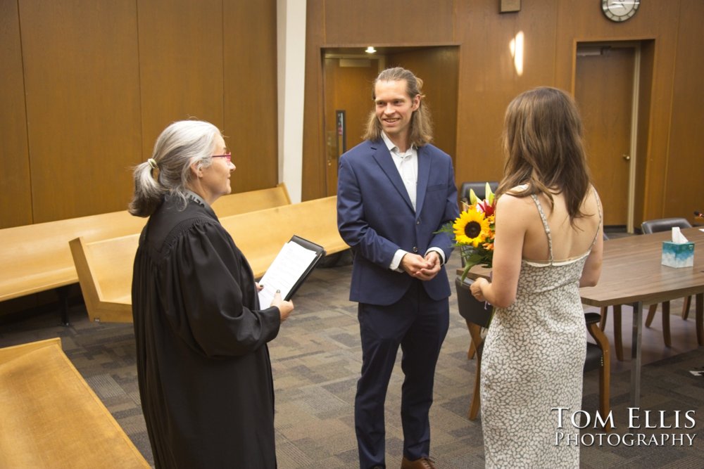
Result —
<svg viewBox="0 0 704 469"><path fill-rule="evenodd" d="M634 113L635 47L577 51L574 98L584 120L586 155L594 186L604 206L604 224L631 231L631 165L636 162L631 139ZM631 152L633 154L631 154Z"/></svg>

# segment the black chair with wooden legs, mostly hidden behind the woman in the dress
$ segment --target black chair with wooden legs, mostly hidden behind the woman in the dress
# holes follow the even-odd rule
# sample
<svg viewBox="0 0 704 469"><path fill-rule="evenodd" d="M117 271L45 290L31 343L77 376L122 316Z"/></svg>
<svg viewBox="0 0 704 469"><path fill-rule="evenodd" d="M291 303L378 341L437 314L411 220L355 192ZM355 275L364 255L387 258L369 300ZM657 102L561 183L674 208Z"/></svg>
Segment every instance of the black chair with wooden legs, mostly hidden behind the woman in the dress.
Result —
<svg viewBox="0 0 704 469"><path fill-rule="evenodd" d="M467 322L467 329L470 331L472 343L477 351L477 373L474 376L474 391L468 417L470 420L477 418L479 411L479 383L482 370L482 350L484 349L484 338L482 328L489 327L491 321L491 309L484 307L484 302L477 301L470 291L472 280L460 276L455 278L455 289L457 290L457 305L462 316ZM584 314L586 328L596 344L586 343L586 360L584 361L584 372L599 369L599 413L601 416L608 416L610 411L609 390L610 390L610 358L608 338L599 328L601 316L598 313ZM606 423L605 430L609 430L610 425Z"/></svg>

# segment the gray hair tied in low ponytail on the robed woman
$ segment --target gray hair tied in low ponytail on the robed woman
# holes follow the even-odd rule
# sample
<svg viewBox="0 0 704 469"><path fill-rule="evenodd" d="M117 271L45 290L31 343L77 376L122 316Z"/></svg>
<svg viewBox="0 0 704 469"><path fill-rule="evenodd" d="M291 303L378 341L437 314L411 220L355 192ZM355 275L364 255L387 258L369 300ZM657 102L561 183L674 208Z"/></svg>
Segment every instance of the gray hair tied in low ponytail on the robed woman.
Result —
<svg viewBox="0 0 704 469"><path fill-rule="evenodd" d="M181 120L166 127L154 143L151 158L134 167L130 213L149 217L166 194L180 198L181 207L185 207L191 164L198 162L202 167L213 164L210 154L218 135L218 127L199 120Z"/></svg>

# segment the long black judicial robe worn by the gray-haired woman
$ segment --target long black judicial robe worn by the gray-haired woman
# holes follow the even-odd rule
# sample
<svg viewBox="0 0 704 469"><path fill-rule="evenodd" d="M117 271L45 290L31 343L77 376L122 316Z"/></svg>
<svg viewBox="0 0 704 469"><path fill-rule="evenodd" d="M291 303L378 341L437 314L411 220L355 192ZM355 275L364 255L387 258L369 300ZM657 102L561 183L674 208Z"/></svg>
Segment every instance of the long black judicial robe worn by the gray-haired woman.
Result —
<svg viewBox="0 0 704 469"><path fill-rule="evenodd" d="M210 207L166 198L134 259L139 396L157 468L276 467L267 342L251 268ZM119 465L119 461L115 461Z"/></svg>

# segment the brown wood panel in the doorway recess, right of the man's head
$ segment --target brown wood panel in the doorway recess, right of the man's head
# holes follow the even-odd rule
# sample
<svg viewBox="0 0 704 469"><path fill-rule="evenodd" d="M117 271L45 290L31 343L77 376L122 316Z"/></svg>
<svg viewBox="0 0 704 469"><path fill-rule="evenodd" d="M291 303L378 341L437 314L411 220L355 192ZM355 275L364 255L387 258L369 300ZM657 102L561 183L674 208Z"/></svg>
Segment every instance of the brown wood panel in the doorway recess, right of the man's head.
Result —
<svg viewBox="0 0 704 469"><path fill-rule="evenodd" d="M389 67L411 70L423 80L423 94L434 127L434 144L456 160L459 49L429 47L389 55Z"/></svg>

